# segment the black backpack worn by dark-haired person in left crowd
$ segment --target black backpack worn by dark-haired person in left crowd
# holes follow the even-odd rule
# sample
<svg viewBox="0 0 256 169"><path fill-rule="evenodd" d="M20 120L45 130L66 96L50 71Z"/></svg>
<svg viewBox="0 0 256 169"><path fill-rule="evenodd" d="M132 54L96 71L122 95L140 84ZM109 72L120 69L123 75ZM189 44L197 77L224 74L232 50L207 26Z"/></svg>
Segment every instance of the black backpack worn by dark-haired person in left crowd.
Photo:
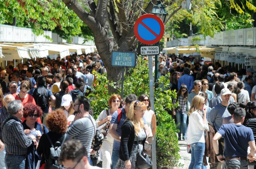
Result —
<svg viewBox="0 0 256 169"><path fill-rule="evenodd" d="M33 92L33 97L36 101L36 104L39 105L42 109L48 106L48 92L44 87L38 87Z"/></svg>

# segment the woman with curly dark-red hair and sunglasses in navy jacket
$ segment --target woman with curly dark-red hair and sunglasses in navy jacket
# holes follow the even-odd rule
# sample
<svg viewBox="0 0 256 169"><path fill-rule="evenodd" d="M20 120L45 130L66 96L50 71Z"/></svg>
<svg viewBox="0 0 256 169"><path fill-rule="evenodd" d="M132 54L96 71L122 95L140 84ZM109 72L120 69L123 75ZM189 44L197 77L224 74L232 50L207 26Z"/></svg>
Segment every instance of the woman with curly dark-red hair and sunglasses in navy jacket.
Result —
<svg viewBox="0 0 256 169"><path fill-rule="evenodd" d="M24 106L23 117L25 118L25 120L22 123L24 133L26 135L31 135L31 134L34 135L36 137L37 142L39 142L41 136L44 133L49 132L44 124L40 124L36 122L36 120L40 118L42 115L43 115L43 111L39 106L33 103L28 103ZM30 145L28 147L25 168L35 169L38 160L41 160L41 156L37 154L37 151L34 145Z"/></svg>

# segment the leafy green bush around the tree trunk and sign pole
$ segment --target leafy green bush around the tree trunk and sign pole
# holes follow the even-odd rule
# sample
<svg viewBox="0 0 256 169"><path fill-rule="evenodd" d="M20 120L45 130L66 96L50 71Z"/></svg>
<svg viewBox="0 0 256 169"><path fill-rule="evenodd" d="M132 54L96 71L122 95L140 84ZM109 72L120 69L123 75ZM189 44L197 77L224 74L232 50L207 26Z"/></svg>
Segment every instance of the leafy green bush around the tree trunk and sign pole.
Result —
<svg viewBox="0 0 256 169"><path fill-rule="evenodd" d="M147 61L139 60L135 68L131 68L129 75L124 76L124 96L135 94L149 95L149 80L148 80L148 63ZM159 78L159 85L168 88L169 80L165 77ZM116 88L116 84L109 82L105 75L97 75L99 85L93 87L92 93L88 96L91 99L91 106L96 119L103 109L108 108L108 85ZM121 89L116 88L120 95ZM176 98L175 91L162 90L156 88L155 91L155 113L157 120L156 129L156 158L157 168L173 167L178 165L179 161L179 145L176 135L177 129L172 119L168 114L168 110L177 107L178 104L172 104L172 98Z"/></svg>

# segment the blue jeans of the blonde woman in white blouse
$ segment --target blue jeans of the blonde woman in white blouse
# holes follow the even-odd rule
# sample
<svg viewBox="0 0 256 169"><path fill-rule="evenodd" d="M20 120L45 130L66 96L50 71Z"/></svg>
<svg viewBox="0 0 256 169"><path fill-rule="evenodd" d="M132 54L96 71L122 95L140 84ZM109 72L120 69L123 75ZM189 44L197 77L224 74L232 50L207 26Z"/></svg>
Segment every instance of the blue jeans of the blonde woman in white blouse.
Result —
<svg viewBox="0 0 256 169"><path fill-rule="evenodd" d="M188 169L201 169L204 156L205 143L192 143L191 146L191 162Z"/></svg>

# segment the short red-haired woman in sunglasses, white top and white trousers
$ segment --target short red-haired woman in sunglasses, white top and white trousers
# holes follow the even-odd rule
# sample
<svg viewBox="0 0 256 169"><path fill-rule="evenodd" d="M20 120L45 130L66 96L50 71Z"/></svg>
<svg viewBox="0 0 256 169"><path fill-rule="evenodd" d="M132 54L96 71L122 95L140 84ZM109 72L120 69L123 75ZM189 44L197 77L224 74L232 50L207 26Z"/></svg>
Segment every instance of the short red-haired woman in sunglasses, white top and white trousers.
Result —
<svg viewBox="0 0 256 169"><path fill-rule="evenodd" d="M108 106L110 109L104 109L101 111L100 115L96 120L96 127L104 123L110 123L113 113L118 110L121 101L120 95L111 95L108 99ZM102 154L102 168L110 169L111 165L111 155L113 149L114 138L110 134L107 135L107 138L102 142L100 148Z"/></svg>

